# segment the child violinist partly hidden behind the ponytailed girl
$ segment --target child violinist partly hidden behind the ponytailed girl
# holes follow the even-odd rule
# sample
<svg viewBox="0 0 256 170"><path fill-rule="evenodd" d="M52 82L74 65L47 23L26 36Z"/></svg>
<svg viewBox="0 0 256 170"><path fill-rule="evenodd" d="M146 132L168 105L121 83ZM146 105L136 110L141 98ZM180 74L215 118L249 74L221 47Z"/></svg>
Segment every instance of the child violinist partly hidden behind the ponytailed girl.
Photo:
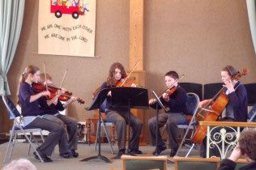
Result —
<svg viewBox="0 0 256 170"><path fill-rule="evenodd" d="M49 86L53 85L52 77L49 74L41 73L40 82L44 83L45 85L47 83L47 85ZM68 117L59 113L59 111L63 111L70 103L74 102L77 99L75 96L71 96L70 100L67 100L64 104L62 104L62 102L58 100L58 97L62 96L65 93L66 89L64 88L62 88L62 90L58 90L57 94L54 94L55 96L53 97L53 99L46 100L46 97L44 97L44 102L41 105L42 108L44 108L45 110L45 118L62 125L64 128L66 126L68 140L67 138L61 139L62 141L59 143L60 156L62 156L63 158L69 158L70 155L73 157L78 157L79 153L75 151L77 150L78 143L78 122L72 117Z"/></svg>

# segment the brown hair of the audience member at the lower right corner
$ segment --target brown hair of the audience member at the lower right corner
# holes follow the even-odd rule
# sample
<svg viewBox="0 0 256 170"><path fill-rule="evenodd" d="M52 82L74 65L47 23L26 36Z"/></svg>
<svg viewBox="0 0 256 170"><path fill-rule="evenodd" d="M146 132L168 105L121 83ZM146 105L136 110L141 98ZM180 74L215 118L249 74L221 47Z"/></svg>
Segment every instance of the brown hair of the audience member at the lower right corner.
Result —
<svg viewBox="0 0 256 170"><path fill-rule="evenodd" d="M256 130L244 130L238 140L241 154L256 160Z"/></svg>

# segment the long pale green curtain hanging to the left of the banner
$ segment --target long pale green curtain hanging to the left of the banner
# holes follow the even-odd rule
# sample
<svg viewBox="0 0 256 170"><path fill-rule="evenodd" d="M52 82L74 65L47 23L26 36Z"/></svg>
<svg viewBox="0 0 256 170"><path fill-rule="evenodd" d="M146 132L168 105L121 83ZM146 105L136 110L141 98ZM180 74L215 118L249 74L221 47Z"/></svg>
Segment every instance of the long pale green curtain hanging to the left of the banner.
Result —
<svg viewBox="0 0 256 170"><path fill-rule="evenodd" d="M25 0L0 0L0 96L11 95L7 73L15 56Z"/></svg>

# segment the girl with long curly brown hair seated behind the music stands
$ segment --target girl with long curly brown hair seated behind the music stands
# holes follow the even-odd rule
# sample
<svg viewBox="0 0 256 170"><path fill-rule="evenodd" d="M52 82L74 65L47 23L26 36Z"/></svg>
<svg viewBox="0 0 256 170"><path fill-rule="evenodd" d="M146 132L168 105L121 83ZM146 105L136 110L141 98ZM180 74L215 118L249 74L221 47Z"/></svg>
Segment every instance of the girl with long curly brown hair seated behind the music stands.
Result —
<svg viewBox="0 0 256 170"><path fill-rule="evenodd" d="M110 66L109 77L107 81L102 84L101 89L117 87L117 83L120 83L122 79L126 79L126 71L122 64L115 62ZM131 87L135 87L135 84L132 83ZM116 127L119 149L117 158L120 158L126 151L126 123L129 114L130 127L133 132L130 138L130 152L133 154L142 154L142 151L139 151L139 135L143 127L142 121L127 110L113 108L110 98L111 91L109 91L105 100L105 108L103 112L106 113L106 121L113 122Z"/></svg>

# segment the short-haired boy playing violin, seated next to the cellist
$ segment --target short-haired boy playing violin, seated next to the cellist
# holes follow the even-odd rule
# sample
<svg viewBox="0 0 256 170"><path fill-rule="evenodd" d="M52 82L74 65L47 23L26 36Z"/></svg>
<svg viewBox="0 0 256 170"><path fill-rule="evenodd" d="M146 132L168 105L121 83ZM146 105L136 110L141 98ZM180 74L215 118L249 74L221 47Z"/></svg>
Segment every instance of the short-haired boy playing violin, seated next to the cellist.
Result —
<svg viewBox="0 0 256 170"><path fill-rule="evenodd" d="M178 85L177 79L179 79L179 76L176 71L169 71L164 75L164 78L166 87L171 88L170 90L172 90L172 88L176 90L173 91L171 95L164 92L164 94L160 96L160 101L164 106L169 108L169 111L158 115L158 125L162 127L166 124L170 148L172 150L170 155L174 156L179 147L177 143L177 124L186 124L186 91ZM156 99L149 100L149 104L152 108L156 108ZM156 117L151 117L151 119L148 120L148 125L151 132L151 142L153 145L156 145ZM156 146L156 151L152 153L153 155L156 155L156 152L157 155L159 155L161 151L166 149L159 128L157 128L157 130L158 146Z"/></svg>

